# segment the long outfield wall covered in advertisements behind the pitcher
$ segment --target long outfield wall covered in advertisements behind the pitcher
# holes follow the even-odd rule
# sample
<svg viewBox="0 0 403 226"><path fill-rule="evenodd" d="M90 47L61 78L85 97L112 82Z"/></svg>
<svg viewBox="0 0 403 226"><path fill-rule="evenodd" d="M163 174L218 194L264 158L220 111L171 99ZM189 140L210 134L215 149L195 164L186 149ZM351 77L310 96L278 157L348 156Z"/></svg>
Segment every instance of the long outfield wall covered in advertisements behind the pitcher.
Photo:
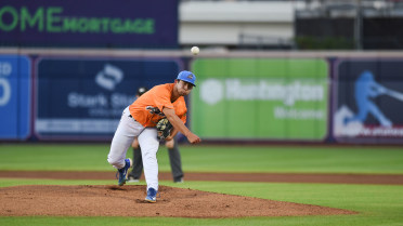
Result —
<svg viewBox="0 0 403 226"><path fill-rule="evenodd" d="M0 141L110 141L139 87L197 76L205 141L403 144L403 52L0 50Z"/></svg>

